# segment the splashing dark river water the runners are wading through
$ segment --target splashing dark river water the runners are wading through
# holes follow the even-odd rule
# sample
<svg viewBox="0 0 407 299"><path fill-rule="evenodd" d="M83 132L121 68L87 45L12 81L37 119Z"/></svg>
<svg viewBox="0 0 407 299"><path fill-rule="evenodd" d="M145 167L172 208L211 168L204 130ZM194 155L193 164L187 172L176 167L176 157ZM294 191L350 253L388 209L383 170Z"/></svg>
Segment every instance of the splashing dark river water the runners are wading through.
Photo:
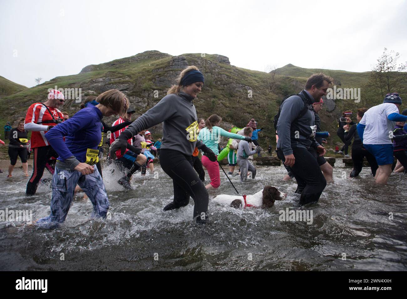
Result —
<svg viewBox="0 0 407 299"><path fill-rule="evenodd" d="M0 270L407 270L405 175L394 174L388 186L378 187L370 168L348 179L351 168L335 165L335 183L307 207L312 224L279 220L279 211L299 209L296 184L282 181L283 166L257 166L252 181L231 177L239 192L271 185L287 199L270 210L210 201L206 225L193 222L192 199L180 210L162 211L173 190L159 165L156 175L134 175L133 190L116 183L120 175L110 165L103 173L111 219L90 219L92 204L78 193L58 229L0 222ZM0 210L32 210L34 220L49 214L47 184L26 197L22 170L6 176L0 176ZM210 198L234 193L223 172L221 187L209 192Z"/></svg>

